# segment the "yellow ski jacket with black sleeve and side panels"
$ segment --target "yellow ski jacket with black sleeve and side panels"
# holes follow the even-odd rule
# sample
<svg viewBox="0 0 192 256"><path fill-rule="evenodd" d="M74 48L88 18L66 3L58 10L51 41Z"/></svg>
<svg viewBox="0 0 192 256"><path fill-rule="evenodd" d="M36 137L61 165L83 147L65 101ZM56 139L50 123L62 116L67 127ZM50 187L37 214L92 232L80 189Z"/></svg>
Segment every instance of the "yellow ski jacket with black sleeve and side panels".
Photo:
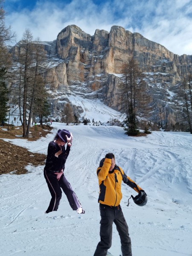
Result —
<svg viewBox="0 0 192 256"><path fill-rule="evenodd" d="M99 199L98 202L109 206L118 206L122 199L121 182L123 180L128 186L139 193L140 188L130 177L125 175L122 168L115 165L109 172L111 159L105 158L103 166L97 168L99 179Z"/></svg>

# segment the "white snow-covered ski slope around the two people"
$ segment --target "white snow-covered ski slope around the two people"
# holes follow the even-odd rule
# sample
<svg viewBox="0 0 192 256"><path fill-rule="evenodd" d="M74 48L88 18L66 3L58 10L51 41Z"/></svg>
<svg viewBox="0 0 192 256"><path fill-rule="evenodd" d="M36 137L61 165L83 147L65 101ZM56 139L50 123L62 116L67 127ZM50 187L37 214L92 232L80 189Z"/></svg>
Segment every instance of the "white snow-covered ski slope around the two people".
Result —
<svg viewBox="0 0 192 256"><path fill-rule="evenodd" d="M120 127L65 126L38 142L10 140L32 152L47 153L59 128L73 133L65 176L86 213L78 215L65 197L57 212L44 214L50 200L44 166L28 166L25 175L0 176L1 256L93 256L99 242L99 185L96 169L108 152L117 165L145 189L148 203L138 207L128 198L137 193L122 183L122 211L128 223L133 256L191 256L192 136L152 132L127 137ZM5 139L6 140L6 139ZM110 252L119 256L119 235L113 226Z"/></svg>

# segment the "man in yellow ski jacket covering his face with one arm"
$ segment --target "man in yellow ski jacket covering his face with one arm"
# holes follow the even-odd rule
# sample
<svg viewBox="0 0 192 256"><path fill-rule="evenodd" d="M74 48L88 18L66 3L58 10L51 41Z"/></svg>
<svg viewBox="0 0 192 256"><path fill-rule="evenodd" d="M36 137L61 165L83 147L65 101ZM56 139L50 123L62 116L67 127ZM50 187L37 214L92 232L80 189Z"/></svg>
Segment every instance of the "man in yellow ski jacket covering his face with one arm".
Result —
<svg viewBox="0 0 192 256"><path fill-rule="evenodd" d="M122 168L115 164L113 153L106 154L97 168L99 179L99 209L101 215L100 238L94 256L106 256L112 242L113 222L121 240L122 256L132 256L131 239L128 225L122 213L120 201L122 199L121 182L123 181L136 192L145 191L140 188L130 177L125 175Z"/></svg>

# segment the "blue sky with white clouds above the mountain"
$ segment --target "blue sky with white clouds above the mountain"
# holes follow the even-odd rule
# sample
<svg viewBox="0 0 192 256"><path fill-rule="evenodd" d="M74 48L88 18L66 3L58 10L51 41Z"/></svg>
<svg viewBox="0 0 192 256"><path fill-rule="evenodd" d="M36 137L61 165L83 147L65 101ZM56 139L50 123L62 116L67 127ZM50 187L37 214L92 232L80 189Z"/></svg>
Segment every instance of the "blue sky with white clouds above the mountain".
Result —
<svg viewBox="0 0 192 256"><path fill-rule="evenodd" d="M25 29L34 39L53 41L72 24L90 35L118 25L175 54L192 55L192 0L5 0L4 9L17 41Z"/></svg>

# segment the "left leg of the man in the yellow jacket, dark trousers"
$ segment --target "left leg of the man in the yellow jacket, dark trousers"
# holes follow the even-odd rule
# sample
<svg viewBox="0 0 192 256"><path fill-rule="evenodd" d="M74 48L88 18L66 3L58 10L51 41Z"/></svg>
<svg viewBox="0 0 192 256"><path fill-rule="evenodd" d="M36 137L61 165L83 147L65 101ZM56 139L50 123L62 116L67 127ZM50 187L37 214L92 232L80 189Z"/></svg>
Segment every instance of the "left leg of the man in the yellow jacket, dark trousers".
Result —
<svg viewBox="0 0 192 256"><path fill-rule="evenodd" d="M106 256L108 249L112 243L112 226L114 220L114 209L99 205L101 221L100 221L100 238L97 244L94 256Z"/></svg>

